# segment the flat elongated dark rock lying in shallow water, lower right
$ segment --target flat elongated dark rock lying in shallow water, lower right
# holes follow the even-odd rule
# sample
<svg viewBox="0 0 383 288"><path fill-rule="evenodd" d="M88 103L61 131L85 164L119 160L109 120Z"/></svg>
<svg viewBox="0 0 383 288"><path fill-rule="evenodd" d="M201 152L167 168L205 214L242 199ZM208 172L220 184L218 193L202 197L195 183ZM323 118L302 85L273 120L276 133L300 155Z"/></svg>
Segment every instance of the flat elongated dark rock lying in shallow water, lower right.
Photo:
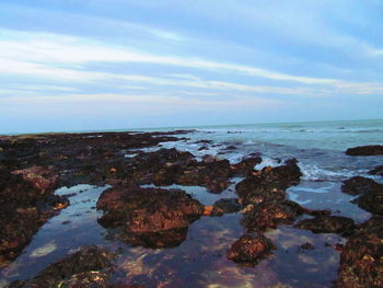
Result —
<svg viewBox="0 0 383 288"><path fill-rule="evenodd" d="M350 234L355 229L353 220L340 216L316 216L313 219L303 219L295 228L310 230L314 233Z"/></svg>

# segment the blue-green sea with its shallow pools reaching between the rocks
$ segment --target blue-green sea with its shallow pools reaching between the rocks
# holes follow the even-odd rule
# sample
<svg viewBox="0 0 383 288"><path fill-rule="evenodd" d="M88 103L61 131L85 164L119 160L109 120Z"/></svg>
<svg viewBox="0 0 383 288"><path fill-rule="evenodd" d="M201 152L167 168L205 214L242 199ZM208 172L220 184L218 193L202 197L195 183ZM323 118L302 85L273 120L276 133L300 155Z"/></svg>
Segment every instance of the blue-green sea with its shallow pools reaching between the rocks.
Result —
<svg viewBox="0 0 383 288"><path fill-rule="evenodd" d="M199 127L164 127L136 131L193 129L182 135L182 141L163 142L140 149L155 151L176 148L201 159L210 154L237 163L251 154L263 162L255 166L276 166L295 158L303 173L300 184L288 188L288 198L312 209L330 209L333 215L365 221L369 212L352 204L353 196L341 193L341 183L361 175L383 183L369 171L383 165L382 155L350 157L348 148L383 145L383 120L313 122L252 124ZM211 140L211 142L200 142ZM235 147L235 149L233 149ZM230 149L228 149L230 148ZM135 150L126 157L135 155ZM205 205L220 198L236 197L234 178L222 194L211 194L204 187L171 185L182 188ZM177 247L132 247L120 242L114 232L97 224L100 211L94 209L100 194L109 186L77 185L61 187L56 193L73 194L71 206L50 219L25 247L23 254L0 272L0 287L14 279L34 277L50 263L57 262L82 245L96 244L118 251L119 277L144 287L332 287L339 267L337 244L346 239L337 234L315 234L311 231L281 226L266 232L277 246L272 255L254 267L235 264L227 258L230 245L245 233L240 224L242 215L204 217L195 221L187 239ZM298 219L300 220L300 219ZM302 251L302 244L314 249Z"/></svg>

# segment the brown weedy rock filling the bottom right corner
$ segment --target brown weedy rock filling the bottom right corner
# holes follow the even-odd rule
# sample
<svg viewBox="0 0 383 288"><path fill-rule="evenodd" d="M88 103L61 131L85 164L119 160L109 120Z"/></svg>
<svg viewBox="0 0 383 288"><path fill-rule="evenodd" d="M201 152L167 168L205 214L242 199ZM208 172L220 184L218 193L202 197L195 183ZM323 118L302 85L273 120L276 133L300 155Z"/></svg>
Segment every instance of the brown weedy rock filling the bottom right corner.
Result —
<svg viewBox="0 0 383 288"><path fill-rule="evenodd" d="M335 287L383 287L383 218L371 218L348 239Z"/></svg>

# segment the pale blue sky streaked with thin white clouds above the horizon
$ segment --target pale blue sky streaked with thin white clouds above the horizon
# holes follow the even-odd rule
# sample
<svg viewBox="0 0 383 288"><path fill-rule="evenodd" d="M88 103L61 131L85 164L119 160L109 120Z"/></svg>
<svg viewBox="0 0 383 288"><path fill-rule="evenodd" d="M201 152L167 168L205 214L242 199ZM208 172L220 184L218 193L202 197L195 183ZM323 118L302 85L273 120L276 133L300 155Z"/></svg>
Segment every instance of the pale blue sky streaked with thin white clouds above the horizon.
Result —
<svg viewBox="0 0 383 288"><path fill-rule="evenodd" d="M382 112L382 0L0 0L2 134Z"/></svg>

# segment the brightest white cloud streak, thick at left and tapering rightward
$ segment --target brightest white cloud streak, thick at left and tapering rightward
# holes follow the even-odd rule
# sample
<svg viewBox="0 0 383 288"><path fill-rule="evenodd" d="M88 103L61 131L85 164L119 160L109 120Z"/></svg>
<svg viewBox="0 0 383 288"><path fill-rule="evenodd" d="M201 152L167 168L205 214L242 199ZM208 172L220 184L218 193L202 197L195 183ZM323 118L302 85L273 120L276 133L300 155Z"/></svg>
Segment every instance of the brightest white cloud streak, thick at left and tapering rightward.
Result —
<svg viewBox="0 0 383 288"><path fill-rule="evenodd" d="M5 33L5 35L10 33ZM102 43L90 42L84 38L61 36L44 33L21 33L19 39L1 39L1 61L15 61L14 66L24 66L23 62L83 65L86 62L141 62L153 65L178 66L196 69L212 70L216 72L236 72L259 78L279 81L293 81L304 84L334 84L336 79L320 79L276 72L263 68L225 64L175 56L159 56L150 53L134 51L126 47L106 46ZM12 72L12 71L10 71ZM68 77L71 77L70 73Z"/></svg>

